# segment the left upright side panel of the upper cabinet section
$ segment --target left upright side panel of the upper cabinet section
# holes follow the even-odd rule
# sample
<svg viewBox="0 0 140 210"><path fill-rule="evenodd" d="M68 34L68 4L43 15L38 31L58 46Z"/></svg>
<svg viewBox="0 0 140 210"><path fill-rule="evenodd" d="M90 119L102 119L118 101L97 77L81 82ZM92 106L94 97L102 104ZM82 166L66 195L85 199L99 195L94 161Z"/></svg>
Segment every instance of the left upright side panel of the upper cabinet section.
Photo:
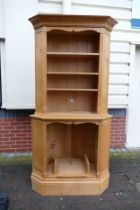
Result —
<svg viewBox="0 0 140 210"><path fill-rule="evenodd" d="M35 34L35 88L36 88L36 112L46 112L46 32L42 30Z"/></svg>

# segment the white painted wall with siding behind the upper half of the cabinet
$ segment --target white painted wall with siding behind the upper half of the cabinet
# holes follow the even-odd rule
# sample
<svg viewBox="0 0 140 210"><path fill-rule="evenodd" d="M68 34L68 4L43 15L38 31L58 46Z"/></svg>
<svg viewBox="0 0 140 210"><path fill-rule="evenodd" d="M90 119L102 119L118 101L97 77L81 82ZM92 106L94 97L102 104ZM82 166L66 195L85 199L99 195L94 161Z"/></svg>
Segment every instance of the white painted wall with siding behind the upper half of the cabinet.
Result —
<svg viewBox="0 0 140 210"><path fill-rule="evenodd" d="M34 31L27 19L38 12L111 15L117 19L111 35L109 108L128 107L130 42L140 41L140 31L131 29L132 0L1 1L5 2L7 100L4 107L34 107Z"/></svg>

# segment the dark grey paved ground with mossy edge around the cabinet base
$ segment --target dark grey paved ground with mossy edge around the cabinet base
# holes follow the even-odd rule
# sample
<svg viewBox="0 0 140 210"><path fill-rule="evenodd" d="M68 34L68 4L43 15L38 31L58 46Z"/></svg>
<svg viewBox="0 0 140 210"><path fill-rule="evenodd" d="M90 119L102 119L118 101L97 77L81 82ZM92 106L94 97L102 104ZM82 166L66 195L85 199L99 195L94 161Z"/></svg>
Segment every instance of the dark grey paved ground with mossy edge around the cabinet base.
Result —
<svg viewBox="0 0 140 210"><path fill-rule="evenodd" d="M101 196L40 196L31 190L30 158L0 158L0 191L9 210L140 210L140 151L111 153L110 187Z"/></svg>

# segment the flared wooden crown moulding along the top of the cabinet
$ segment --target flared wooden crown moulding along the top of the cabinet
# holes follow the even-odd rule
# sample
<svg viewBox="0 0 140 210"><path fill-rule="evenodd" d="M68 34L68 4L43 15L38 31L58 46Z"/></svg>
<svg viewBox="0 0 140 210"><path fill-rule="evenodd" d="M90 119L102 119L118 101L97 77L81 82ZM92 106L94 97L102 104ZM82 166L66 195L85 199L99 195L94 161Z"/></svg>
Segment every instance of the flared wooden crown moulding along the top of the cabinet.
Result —
<svg viewBox="0 0 140 210"><path fill-rule="evenodd" d="M34 28L42 26L59 27L84 27L84 28L105 28L111 31L117 23L109 16L88 16L88 15L46 15L39 14L29 19Z"/></svg>

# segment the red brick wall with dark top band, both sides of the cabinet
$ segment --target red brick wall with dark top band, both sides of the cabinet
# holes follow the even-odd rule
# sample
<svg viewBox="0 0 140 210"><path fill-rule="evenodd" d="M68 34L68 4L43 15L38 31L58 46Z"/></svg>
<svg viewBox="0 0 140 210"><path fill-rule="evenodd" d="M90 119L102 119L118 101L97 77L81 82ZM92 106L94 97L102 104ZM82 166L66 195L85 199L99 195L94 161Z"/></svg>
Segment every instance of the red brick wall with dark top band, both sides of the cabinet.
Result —
<svg viewBox="0 0 140 210"><path fill-rule="evenodd" d="M0 152L31 151L31 121L33 111L0 111ZM126 141L126 111L109 110L113 115L111 124L111 147L123 148Z"/></svg>

